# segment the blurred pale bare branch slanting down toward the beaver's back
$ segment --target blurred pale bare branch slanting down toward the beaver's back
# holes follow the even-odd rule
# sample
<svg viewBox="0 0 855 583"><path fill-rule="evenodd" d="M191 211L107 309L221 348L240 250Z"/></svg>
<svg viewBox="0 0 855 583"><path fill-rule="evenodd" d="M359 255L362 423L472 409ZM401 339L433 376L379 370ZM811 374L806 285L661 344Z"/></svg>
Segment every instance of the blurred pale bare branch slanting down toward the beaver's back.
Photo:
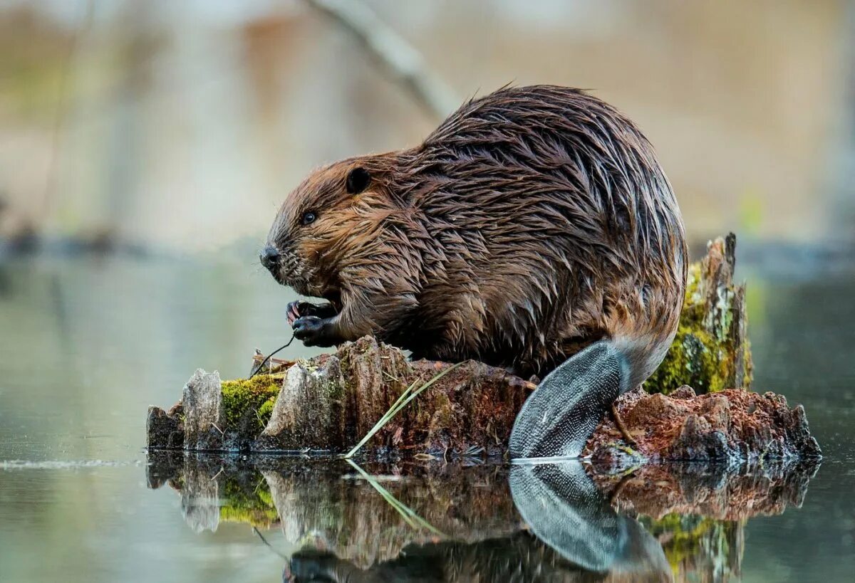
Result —
<svg viewBox="0 0 855 583"><path fill-rule="evenodd" d="M419 51L386 26L364 3L351 0L304 2L351 32L383 73L403 85L433 118L445 119L457 109L460 100L445 81L428 69Z"/></svg>

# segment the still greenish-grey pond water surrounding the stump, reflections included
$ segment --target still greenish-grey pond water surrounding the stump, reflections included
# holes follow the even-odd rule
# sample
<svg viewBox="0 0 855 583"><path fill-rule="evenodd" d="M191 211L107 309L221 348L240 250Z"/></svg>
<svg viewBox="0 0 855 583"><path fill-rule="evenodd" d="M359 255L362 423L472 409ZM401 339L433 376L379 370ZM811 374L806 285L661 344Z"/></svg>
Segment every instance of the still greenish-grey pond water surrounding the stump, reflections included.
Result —
<svg viewBox="0 0 855 583"><path fill-rule="evenodd" d="M804 403L822 466L599 488L578 462L147 457L147 407L244 376L292 297L251 262L0 263L0 581L851 581L855 266L757 256L754 386Z"/></svg>

